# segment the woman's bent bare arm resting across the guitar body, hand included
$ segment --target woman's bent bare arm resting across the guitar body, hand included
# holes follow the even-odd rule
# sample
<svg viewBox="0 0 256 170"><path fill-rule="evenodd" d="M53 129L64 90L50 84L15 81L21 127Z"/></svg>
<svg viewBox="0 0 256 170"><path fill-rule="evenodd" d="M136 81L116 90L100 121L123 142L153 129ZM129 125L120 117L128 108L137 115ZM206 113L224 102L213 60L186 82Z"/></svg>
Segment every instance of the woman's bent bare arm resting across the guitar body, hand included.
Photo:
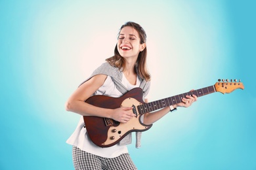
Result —
<svg viewBox="0 0 256 170"><path fill-rule="evenodd" d="M134 116L131 112L132 107L104 109L85 103L104 84L106 77L106 75L95 75L87 80L87 82L81 84L66 102L66 110L81 114L82 116L98 116L112 118L118 122L128 122Z"/></svg>

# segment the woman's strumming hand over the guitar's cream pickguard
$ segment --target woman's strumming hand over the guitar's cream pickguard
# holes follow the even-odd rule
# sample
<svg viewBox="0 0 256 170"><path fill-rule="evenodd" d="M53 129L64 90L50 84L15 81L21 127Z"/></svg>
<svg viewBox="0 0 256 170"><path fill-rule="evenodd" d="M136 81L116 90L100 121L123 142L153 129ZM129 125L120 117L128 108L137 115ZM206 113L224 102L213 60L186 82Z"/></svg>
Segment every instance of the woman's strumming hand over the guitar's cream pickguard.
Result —
<svg viewBox="0 0 256 170"><path fill-rule="evenodd" d="M112 119L121 123L127 123L134 116L135 114L133 114L133 107L120 107L120 108L114 109L111 114Z"/></svg>

